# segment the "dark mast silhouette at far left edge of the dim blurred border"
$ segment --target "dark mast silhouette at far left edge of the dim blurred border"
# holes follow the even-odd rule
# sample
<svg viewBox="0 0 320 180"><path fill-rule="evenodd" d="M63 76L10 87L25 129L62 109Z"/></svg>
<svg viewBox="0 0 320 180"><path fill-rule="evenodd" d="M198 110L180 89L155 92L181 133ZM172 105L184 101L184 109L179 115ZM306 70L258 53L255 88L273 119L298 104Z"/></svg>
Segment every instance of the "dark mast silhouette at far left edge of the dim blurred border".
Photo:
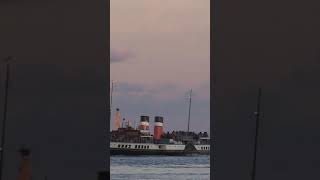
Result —
<svg viewBox="0 0 320 180"><path fill-rule="evenodd" d="M3 121L2 121L2 135L1 135L1 151L0 151L0 180L3 176L3 164L4 164L4 150L5 150L5 137L6 137L6 121L7 121L7 109L8 109L8 87L10 79L10 64L9 60L12 57L5 59L6 62L6 79L5 79L5 96L4 96L4 110L3 110Z"/></svg>

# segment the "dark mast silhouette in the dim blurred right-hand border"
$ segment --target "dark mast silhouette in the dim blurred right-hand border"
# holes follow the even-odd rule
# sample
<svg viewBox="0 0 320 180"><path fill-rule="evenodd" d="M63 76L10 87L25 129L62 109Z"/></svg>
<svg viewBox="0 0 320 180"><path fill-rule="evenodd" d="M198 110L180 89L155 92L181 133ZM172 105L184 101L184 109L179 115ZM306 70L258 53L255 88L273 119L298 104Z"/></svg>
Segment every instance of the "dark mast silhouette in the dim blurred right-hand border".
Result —
<svg viewBox="0 0 320 180"><path fill-rule="evenodd" d="M258 137L259 137L259 121L260 121L260 105L261 105L261 88L258 90L258 100L257 100L257 111L256 115L256 133L254 137L254 152L253 152L253 163L252 163L252 174L251 180L256 179L256 162L257 162L257 149L258 149Z"/></svg>

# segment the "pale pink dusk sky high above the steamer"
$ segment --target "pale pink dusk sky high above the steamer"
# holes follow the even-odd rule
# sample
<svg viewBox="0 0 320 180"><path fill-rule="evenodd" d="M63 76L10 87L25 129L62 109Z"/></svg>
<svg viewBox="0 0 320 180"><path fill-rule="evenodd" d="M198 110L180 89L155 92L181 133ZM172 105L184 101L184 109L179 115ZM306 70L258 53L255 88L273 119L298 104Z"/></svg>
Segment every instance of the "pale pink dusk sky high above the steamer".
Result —
<svg viewBox="0 0 320 180"><path fill-rule="evenodd" d="M186 91L192 88L194 100L203 101L193 107L194 115L201 111L197 108L207 109L201 111L203 125L197 129L208 130L209 5L210 0L111 0L111 79L119 84L117 88L121 84L141 88L127 93L115 88L115 106L125 106L120 102L123 96L138 96L148 103L182 100L185 106ZM170 123L178 128L181 118L185 114Z"/></svg>

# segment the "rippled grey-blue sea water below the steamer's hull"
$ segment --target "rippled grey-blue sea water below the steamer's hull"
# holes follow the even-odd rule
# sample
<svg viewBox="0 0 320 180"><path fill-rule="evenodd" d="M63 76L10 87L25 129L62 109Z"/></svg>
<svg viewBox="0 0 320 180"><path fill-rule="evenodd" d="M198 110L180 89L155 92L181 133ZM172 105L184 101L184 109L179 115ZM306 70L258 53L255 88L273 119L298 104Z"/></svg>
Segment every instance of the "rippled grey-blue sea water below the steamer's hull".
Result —
<svg viewBox="0 0 320 180"><path fill-rule="evenodd" d="M111 156L112 180L209 180L210 156Z"/></svg>

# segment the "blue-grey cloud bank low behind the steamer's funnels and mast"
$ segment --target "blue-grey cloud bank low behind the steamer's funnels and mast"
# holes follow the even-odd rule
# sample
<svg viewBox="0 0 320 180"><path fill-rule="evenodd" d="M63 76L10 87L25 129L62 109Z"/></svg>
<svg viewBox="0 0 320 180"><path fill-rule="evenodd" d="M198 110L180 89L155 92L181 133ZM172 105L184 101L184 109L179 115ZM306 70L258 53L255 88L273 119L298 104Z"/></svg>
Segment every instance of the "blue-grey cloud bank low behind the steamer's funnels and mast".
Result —
<svg viewBox="0 0 320 180"><path fill-rule="evenodd" d="M186 91L179 90L174 84L150 87L144 84L118 83L115 85L111 128L114 127L115 108L120 108L122 117L131 123L138 123L139 116L144 114L150 116L153 124L154 116L161 115L165 117L165 131L186 129L188 115ZM191 109L192 130L209 131L209 108L209 99L194 97Z"/></svg>

